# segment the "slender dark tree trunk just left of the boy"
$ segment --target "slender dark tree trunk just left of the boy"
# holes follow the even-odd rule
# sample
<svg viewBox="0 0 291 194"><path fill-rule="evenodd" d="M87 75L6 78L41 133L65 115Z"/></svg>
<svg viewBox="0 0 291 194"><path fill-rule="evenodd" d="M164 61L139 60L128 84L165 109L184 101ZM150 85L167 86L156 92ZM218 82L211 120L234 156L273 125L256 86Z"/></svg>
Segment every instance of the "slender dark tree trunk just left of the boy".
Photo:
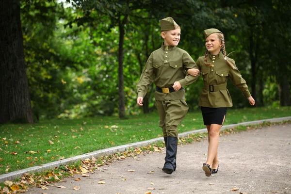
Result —
<svg viewBox="0 0 291 194"><path fill-rule="evenodd" d="M125 20L127 18L124 18ZM125 118L124 76L123 76L123 44L125 29L123 22L119 22L118 45L118 94L119 94L119 118Z"/></svg>

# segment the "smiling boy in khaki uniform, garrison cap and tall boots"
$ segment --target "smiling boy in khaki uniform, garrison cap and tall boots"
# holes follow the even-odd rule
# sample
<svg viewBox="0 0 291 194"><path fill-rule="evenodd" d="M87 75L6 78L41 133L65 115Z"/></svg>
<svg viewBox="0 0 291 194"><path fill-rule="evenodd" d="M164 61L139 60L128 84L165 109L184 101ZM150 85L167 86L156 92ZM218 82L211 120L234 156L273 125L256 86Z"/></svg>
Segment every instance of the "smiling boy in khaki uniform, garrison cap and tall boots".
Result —
<svg viewBox="0 0 291 194"><path fill-rule="evenodd" d="M155 100L160 115L160 127L166 145L166 157L162 170L172 174L176 170L178 145L178 125L188 112L183 86L196 81L199 76L185 75L190 68L198 66L192 57L178 48L181 29L172 17L161 20L162 47L153 51L147 59L146 66L137 84L137 104L143 106L148 85L153 80L156 85Z"/></svg>

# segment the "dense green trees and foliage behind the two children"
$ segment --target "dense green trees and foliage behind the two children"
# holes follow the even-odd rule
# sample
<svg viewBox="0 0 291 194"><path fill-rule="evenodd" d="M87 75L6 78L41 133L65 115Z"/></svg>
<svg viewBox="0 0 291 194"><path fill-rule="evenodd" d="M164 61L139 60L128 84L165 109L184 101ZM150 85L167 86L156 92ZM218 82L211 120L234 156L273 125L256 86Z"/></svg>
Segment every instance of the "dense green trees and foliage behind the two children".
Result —
<svg viewBox="0 0 291 194"><path fill-rule="evenodd" d="M98 114L125 118L129 114L151 112L154 85L140 108L136 105L136 83L147 57L161 46L159 20L166 16L172 16L181 26L179 47L194 60L205 52L203 31L220 29L225 33L226 51L235 51L229 57L235 59L257 105L288 106L291 25L287 18L291 7L287 0L256 2L1 1L1 13L6 16L0 19L1 123L18 118L32 122L32 112L36 121ZM21 19L17 12L10 12L9 16L6 9L17 6ZM8 32L11 18L15 18L14 24L21 21L21 31ZM8 35L14 38L4 38ZM14 44L16 40L20 46ZM21 60L21 52L25 61ZM16 67L16 59L22 65ZM17 78L7 71L11 68L17 69ZM29 84L25 83L26 75ZM7 84L7 79L11 84ZM29 90L25 85L29 85ZM202 79L186 87L190 110L198 108L201 87ZM21 88L23 97L14 95L17 88L18 91ZM235 108L248 106L231 81L228 89ZM17 108L8 108L14 101L19 104ZM13 117L11 110L22 113Z"/></svg>

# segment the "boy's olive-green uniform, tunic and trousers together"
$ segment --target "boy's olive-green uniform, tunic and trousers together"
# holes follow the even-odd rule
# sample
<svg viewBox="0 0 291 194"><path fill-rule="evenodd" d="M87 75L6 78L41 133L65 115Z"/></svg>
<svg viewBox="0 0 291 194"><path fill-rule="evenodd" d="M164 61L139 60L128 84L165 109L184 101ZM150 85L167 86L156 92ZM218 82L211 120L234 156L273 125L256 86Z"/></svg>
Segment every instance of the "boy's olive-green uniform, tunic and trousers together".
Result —
<svg viewBox="0 0 291 194"><path fill-rule="evenodd" d="M168 88L179 81L181 87L196 81L199 76L185 75L190 68L198 69L192 57L183 49L164 46L153 51L142 72L137 84L138 97L145 97L149 84L154 81L157 87ZM155 92L156 107L160 115L160 124L163 136L178 137L178 125L188 112L185 101L185 90L164 94Z"/></svg>

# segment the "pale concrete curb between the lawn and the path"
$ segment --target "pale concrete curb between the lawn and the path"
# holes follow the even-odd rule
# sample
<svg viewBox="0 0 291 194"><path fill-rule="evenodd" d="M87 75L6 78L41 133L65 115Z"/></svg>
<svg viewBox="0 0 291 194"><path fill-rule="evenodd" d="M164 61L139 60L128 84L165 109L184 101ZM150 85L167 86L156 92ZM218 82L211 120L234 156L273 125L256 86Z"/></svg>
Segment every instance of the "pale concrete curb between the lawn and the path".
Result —
<svg viewBox="0 0 291 194"><path fill-rule="evenodd" d="M221 128L221 130L224 129L230 129L230 128L234 128L240 125L256 125L256 124L260 124L260 123L264 123L264 122L281 122L284 120L291 120L291 116L287 116L287 117L281 117L281 118L273 118L273 119L264 119L264 120L258 120L258 121L250 121L250 122L243 122L243 123L238 123L238 124L232 124L232 125L226 125L223 126ZM178 137L186 137L190 134L193 133L199 133L199 132L207 132L207 129L199 129L199 130L192 130L192 131L187 131L187 132L183 132L183 133L179 133ZM58 167L61 164L65 165L65 164L72 164L74 162L78 162L81 159L85 160L87 158L91 158L92 156L94 156L95 158L99 158L101 156L106 156L106 155L112 155L116 152L123 152L126 151L128 148L130 147L142 147L142 146L147 146L149 144L152 143L156 143L159 141L163 141L163 137L159 137L159 138L155 138L155 139L151 139L151 140L147 140L147 141L143 141L143 142L137 142L134 144L127 144L127 145L123 145L123 146L116 146L116 147L111 147L111 148L107 148L107 149L102 149L102 150L98 150L98 151L94 151L94 152L90 152L87 154L83 154L80 156L75 156L72 158L67 158L61 161L56 161L56 162L50 162L47 164L43 164L42 166L33 166L30 168L26 168L26 169L22 169L22 170L18 170L18 171L14 171L8 174L3 174L0 175L0 182L4 182L5 180L14 180L16 178L21 177L22 175L24 175L25 173L35 173L35 172L42 172L45 170L49 170L49 169L53 169L54 167Z"/></svg>

